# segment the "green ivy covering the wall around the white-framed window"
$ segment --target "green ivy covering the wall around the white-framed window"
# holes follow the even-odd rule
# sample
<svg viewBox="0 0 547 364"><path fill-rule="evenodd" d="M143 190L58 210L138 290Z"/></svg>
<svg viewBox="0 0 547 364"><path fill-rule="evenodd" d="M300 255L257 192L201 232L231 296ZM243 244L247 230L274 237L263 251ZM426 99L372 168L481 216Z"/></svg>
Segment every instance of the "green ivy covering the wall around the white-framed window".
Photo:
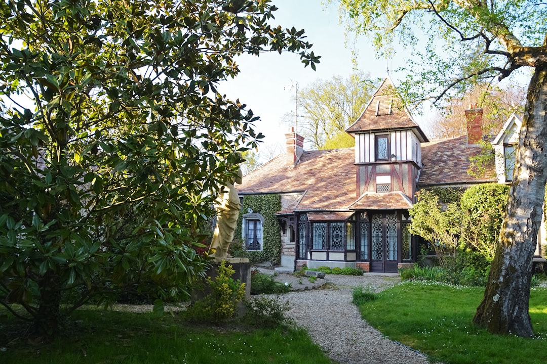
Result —
<svg viewBox="0 0 547 364"><path fill-rule="evenodd" d="M241 239L243 214L251 208L264 218L262 229L263 248L261 251L247 251ZM237 218L234 241L230 244L230 254L249 258L253 263L270 261L274 265L281 263L281 226L275 216L281 210L281 196L276 194L245 195Z"/></svg>

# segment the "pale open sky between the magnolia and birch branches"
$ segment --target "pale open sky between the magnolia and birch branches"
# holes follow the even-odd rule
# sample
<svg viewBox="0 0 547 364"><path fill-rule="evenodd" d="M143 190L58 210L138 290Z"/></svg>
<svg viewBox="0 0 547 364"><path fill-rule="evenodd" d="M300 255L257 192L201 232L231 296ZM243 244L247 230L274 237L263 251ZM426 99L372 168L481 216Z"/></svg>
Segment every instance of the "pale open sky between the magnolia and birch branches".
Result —
<svg viewBox="0 0 547 364"><path fill-rule="evenodd" d="M311 50L321 56L316 71L304 68L300 56L289 52L281 55L263 53L259 57L241 56L236 59L241 73L235 79L220 85L219 91L229 98L239 98L253 110L261 120L255 123L255 130L265 135L266 145L284 145L285 133L289 123L283 122L286 114L294 115L295 85L300 89L316 80L329 80L339 75L347 77L354 73L352 50L346 47L345 26L339 23L337 7L326 7L321 0L274 0L278 8L275 11L275 25L283 28L305 29L307 40L313 44ZM389 66L389 75L397 84L397 74L393 71L402 64L400 59L387 61L374 57L373 46L366 39L358 41L359 70L369 72L373 78L385 77ZM401 75L401 79L402 79ZM294 124L294 116L290 117Z"/></svg>

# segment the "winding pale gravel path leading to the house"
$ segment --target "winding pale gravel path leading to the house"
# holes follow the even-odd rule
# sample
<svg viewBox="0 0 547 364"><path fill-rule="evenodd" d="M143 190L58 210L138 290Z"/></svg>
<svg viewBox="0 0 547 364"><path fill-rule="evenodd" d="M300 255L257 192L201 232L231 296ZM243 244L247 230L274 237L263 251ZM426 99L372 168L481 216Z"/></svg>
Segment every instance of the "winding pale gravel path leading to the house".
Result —
<svg viewBox="0 0 547 364"><path fill-rule="evenodd" d="M429 363L426 356L383 337L351 303L353 287L371 284L375 291L381 291L398 283L398 276L327 275L325 281L332 284L322 289L293 291L281 299L290 302L290 317L305 327L331 359L340 364Z"/></svg>

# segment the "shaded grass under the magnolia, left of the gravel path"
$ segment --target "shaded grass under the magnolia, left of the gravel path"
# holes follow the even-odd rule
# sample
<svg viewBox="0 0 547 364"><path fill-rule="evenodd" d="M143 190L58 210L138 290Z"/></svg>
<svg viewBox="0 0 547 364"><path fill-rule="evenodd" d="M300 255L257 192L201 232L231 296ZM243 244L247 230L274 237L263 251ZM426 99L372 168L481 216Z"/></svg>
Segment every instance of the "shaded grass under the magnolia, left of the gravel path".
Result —
<svg viewBox="0 0 547 364"><path fill-rule="evenodd" d="M0 316L0 363L165 364L304 363L330 364L304 330L278 327L196 327L179 315L80 309L66 337L28 345ZM5 351L3 350L5 349Z"/></svg>

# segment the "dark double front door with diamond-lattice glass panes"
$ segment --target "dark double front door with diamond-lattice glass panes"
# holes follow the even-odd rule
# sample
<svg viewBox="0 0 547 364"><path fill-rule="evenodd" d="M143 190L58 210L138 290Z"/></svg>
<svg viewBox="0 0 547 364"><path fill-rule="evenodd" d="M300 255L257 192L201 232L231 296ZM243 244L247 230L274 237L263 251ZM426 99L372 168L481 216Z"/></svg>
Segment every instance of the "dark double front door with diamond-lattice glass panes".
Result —
<svg viewBox="0 0 547 364"><path fill-rule="evenodd" d="M397 272L397 214L384 213L372 217L371 272Z"/></svg>

